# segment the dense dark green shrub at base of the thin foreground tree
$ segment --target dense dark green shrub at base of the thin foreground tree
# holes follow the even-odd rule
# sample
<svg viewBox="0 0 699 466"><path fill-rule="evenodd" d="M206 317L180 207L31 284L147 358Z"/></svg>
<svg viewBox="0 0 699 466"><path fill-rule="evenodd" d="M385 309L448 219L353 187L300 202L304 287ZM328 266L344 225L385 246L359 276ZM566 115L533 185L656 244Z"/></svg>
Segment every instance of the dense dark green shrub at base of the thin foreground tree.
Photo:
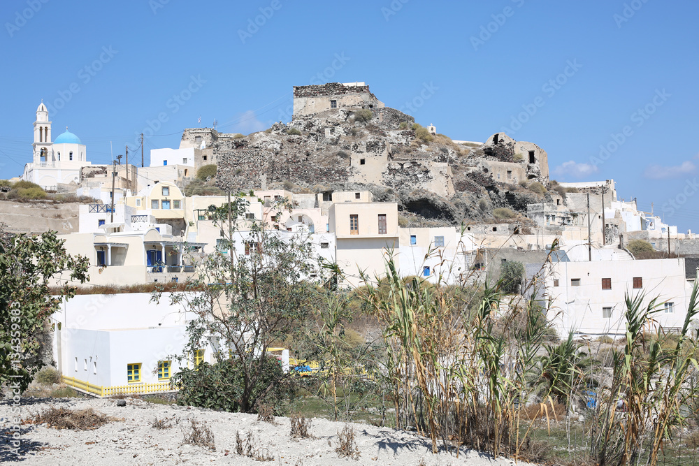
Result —
<svg viewBox="0 0 699 466"><path fill-rule="evenodd" d="M244 386L240 364L238 358L231 358L212 365L201 363L196 369L183 369L173 375L173 386L180 388L178 405L240 412ZM250 364L250 361L245 361L245 364ZM257 385L252 387L251 407L261 403L271 405L273 398L282 393L279 382L284 377L284 371L278 359L266 356L260 374Z"/></svg>

